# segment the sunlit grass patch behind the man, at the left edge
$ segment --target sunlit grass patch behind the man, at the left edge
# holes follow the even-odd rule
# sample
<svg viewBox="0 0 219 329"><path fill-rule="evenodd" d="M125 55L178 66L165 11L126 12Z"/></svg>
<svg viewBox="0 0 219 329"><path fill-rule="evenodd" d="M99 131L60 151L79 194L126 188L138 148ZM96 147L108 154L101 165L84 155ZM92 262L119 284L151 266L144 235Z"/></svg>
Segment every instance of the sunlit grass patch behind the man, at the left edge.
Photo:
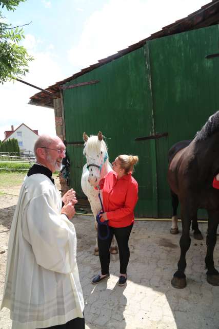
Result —
<svg viewBox="0 0 219 329"><path fill-rule="evenodd" d="M24 170L23 172L0 171L0 190L7 189L17 185L22 185L22 182L26 174L27 172Z"/></svg>

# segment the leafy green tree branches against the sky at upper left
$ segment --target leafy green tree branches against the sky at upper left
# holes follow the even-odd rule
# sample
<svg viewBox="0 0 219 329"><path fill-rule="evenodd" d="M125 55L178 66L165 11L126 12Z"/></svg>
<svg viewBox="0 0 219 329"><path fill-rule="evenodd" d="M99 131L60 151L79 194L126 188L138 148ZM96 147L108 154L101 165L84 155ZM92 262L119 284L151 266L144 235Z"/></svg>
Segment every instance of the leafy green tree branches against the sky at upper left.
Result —
<svg viewBox="0 0 219 329"><path fill-rule="evenodd" d="M1 7L14 11L20 2L26 0L0 0ZM28 72L28 63L33 58L19 45L24 36L23 29L11 27L3 22L0 10L0 83L19 78Z"/></svg>

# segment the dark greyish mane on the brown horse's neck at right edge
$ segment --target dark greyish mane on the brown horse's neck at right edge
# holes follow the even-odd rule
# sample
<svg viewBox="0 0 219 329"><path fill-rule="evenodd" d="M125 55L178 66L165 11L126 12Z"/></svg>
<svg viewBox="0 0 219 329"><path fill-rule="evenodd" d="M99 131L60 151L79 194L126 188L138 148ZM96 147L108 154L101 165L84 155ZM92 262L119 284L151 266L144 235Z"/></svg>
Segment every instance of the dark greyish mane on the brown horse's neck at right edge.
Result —
<svg viewBox="0 0 219 329"><path fill-rule="evenodd" d="M202 129L196 133L196 141L204 140L214 133L219 131L219 111L215 112L211 115L206 122L206 124L202 127Z"/></svg>

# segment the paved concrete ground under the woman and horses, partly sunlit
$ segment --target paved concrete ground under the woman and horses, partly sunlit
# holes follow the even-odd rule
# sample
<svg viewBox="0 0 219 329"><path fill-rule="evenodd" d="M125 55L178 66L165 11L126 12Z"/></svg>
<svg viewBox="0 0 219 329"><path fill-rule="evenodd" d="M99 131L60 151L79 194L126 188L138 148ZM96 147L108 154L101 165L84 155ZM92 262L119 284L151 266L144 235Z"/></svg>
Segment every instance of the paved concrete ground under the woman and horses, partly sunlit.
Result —
<svg viewBox="0 0 219 329"><path fill-rule="evenodd" d="M136 221L130 236L127 285L117 285L118 255L111 257L110 279L92 285L99 271L99 259L93 255L93 220L78 215L74 223L87 329L219 328L219 287L206 281L206 240L194 240L191 233L187 287L174 289L170 280L180 255L180 234L169 233L170 222ZM207 224L200 228L206 238ZM214 260L219 269L218 242Z"/></svg>

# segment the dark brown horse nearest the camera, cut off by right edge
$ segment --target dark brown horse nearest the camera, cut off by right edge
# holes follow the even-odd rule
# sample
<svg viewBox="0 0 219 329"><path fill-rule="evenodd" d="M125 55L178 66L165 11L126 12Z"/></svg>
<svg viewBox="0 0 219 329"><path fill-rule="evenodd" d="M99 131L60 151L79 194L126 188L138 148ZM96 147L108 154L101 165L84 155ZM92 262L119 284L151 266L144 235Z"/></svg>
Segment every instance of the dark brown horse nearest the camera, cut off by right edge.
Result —
<svg viewBox="0 0 219 329"><path fill-rule="evenodd" d="M178 151L168 169L170 189L181 203L182 236L178 270L171 281L175 288L186 286L186 252L190 247L190 225L197 218L197 210L208 212L207 253L205 258L207 281L219 285L219 272L214 267L213 251L219 223L219 190L212 187L213 178L219 173L219 111L213 114L191 143Z"/></svg>

